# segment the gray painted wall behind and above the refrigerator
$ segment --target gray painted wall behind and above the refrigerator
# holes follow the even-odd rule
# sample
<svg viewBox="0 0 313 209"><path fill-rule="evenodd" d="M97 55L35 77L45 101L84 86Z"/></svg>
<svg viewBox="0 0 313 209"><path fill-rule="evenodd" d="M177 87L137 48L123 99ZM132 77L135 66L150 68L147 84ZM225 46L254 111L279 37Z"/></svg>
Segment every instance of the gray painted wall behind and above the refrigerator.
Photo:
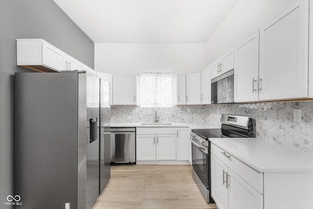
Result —
<svg viewBox="0 0 313 209"><path fill-rule="evenodd" d="M42 38L90 68L94 44L53 0L0 0L0 208L13 195L16 39ZM33 71L32 71L33 72Z"/></svg>

